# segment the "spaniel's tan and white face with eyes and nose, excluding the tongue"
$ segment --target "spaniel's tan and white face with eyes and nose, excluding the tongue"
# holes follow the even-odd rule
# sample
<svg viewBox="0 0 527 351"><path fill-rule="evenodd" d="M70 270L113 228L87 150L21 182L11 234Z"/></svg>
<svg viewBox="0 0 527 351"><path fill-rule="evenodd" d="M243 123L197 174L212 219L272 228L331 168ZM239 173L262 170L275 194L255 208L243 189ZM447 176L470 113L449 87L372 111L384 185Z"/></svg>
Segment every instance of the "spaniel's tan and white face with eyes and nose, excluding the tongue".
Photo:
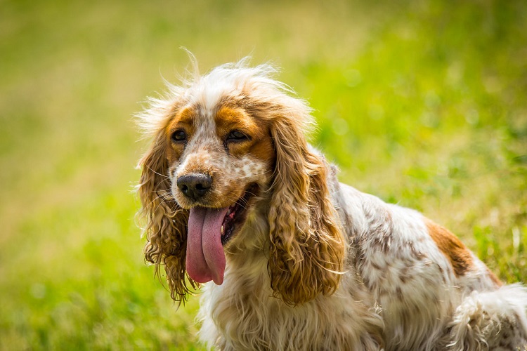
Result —
<svg viewBox="0 0 527 351"><path fill-rule="evenodd" d="M167 128L171 192L183 208L225 208L268 182L274 152L265 121L240 107L183 107Z"/></svg>

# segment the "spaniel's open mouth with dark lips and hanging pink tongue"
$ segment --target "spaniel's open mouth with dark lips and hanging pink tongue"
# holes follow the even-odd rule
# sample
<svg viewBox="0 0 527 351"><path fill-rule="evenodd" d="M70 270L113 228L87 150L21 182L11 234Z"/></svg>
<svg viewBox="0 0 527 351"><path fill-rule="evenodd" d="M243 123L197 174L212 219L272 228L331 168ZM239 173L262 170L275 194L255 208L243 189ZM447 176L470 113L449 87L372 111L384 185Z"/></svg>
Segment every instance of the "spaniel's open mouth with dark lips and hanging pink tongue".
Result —
<svg viewBox="0 0 527 351"><path fill-rule="evenodd" d="M259 192L252 185L233 205L224 208L190 208L187 230L186 270L198 283L223 283L226 258L223 246L240 231L247 219L247 208Z"/></svg>

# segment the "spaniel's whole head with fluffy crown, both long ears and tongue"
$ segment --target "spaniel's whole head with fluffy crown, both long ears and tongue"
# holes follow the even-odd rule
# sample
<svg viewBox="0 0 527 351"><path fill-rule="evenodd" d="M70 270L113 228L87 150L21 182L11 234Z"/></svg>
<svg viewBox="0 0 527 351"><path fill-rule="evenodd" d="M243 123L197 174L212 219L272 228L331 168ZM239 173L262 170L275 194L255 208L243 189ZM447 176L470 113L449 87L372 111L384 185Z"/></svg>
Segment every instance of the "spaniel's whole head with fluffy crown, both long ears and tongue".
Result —
<svg viewBox="0 0 527 351"><path fill-rule="evenodd" d="M152 100L141 126L153 136L141 159L145 257L165 265L175 300L223 283L225 248L247 240L256 206L268 222L271 286L286 303L332 293L344 239L325 161L303 131L303 100L270 78L268 65L223 65ZM265 213L265 214L261 214Z"/></svg>

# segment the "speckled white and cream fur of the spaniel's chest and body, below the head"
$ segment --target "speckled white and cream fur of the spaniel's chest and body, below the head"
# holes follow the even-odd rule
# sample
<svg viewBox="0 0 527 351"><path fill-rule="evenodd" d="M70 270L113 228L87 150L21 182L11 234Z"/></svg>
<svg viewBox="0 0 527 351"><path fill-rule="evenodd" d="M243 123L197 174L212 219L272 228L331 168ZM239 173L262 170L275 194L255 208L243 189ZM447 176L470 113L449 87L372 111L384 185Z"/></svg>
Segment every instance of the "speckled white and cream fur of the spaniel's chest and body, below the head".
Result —
<svg viewBox="0 0 527 351"><path fill-rule="evenodd" d="M204 286L198 316L204 343L222 350L493 350L500 342L526 347L526 288L495 290L483 264L455 277L420 213L333 186L339 189L334 201L341 224L353 223L346 227L349 265L337 292L294 307L273 298L268 225L253 213L240 233L252 238L252 246L228 256L221 286ZM372 228L386 224L386 213L393 228L384 253ZM403 270L411 276L405 283Z"/></svg>

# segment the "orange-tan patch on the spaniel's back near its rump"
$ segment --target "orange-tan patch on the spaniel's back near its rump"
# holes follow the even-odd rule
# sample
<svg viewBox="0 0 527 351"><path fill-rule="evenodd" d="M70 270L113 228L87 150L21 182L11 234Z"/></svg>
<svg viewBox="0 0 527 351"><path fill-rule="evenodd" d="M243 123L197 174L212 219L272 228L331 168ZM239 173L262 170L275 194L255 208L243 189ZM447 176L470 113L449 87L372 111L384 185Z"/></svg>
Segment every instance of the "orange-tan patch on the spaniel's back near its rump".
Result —
<svg viewBox="0 0 527 351"><path fill-rule="evenodd" d="M450 261L456 277L464 275L474 267L469 249L452 232L427 218L424 218L424 224L427 225L429 235L436 242L439 250Z"/></svg>

